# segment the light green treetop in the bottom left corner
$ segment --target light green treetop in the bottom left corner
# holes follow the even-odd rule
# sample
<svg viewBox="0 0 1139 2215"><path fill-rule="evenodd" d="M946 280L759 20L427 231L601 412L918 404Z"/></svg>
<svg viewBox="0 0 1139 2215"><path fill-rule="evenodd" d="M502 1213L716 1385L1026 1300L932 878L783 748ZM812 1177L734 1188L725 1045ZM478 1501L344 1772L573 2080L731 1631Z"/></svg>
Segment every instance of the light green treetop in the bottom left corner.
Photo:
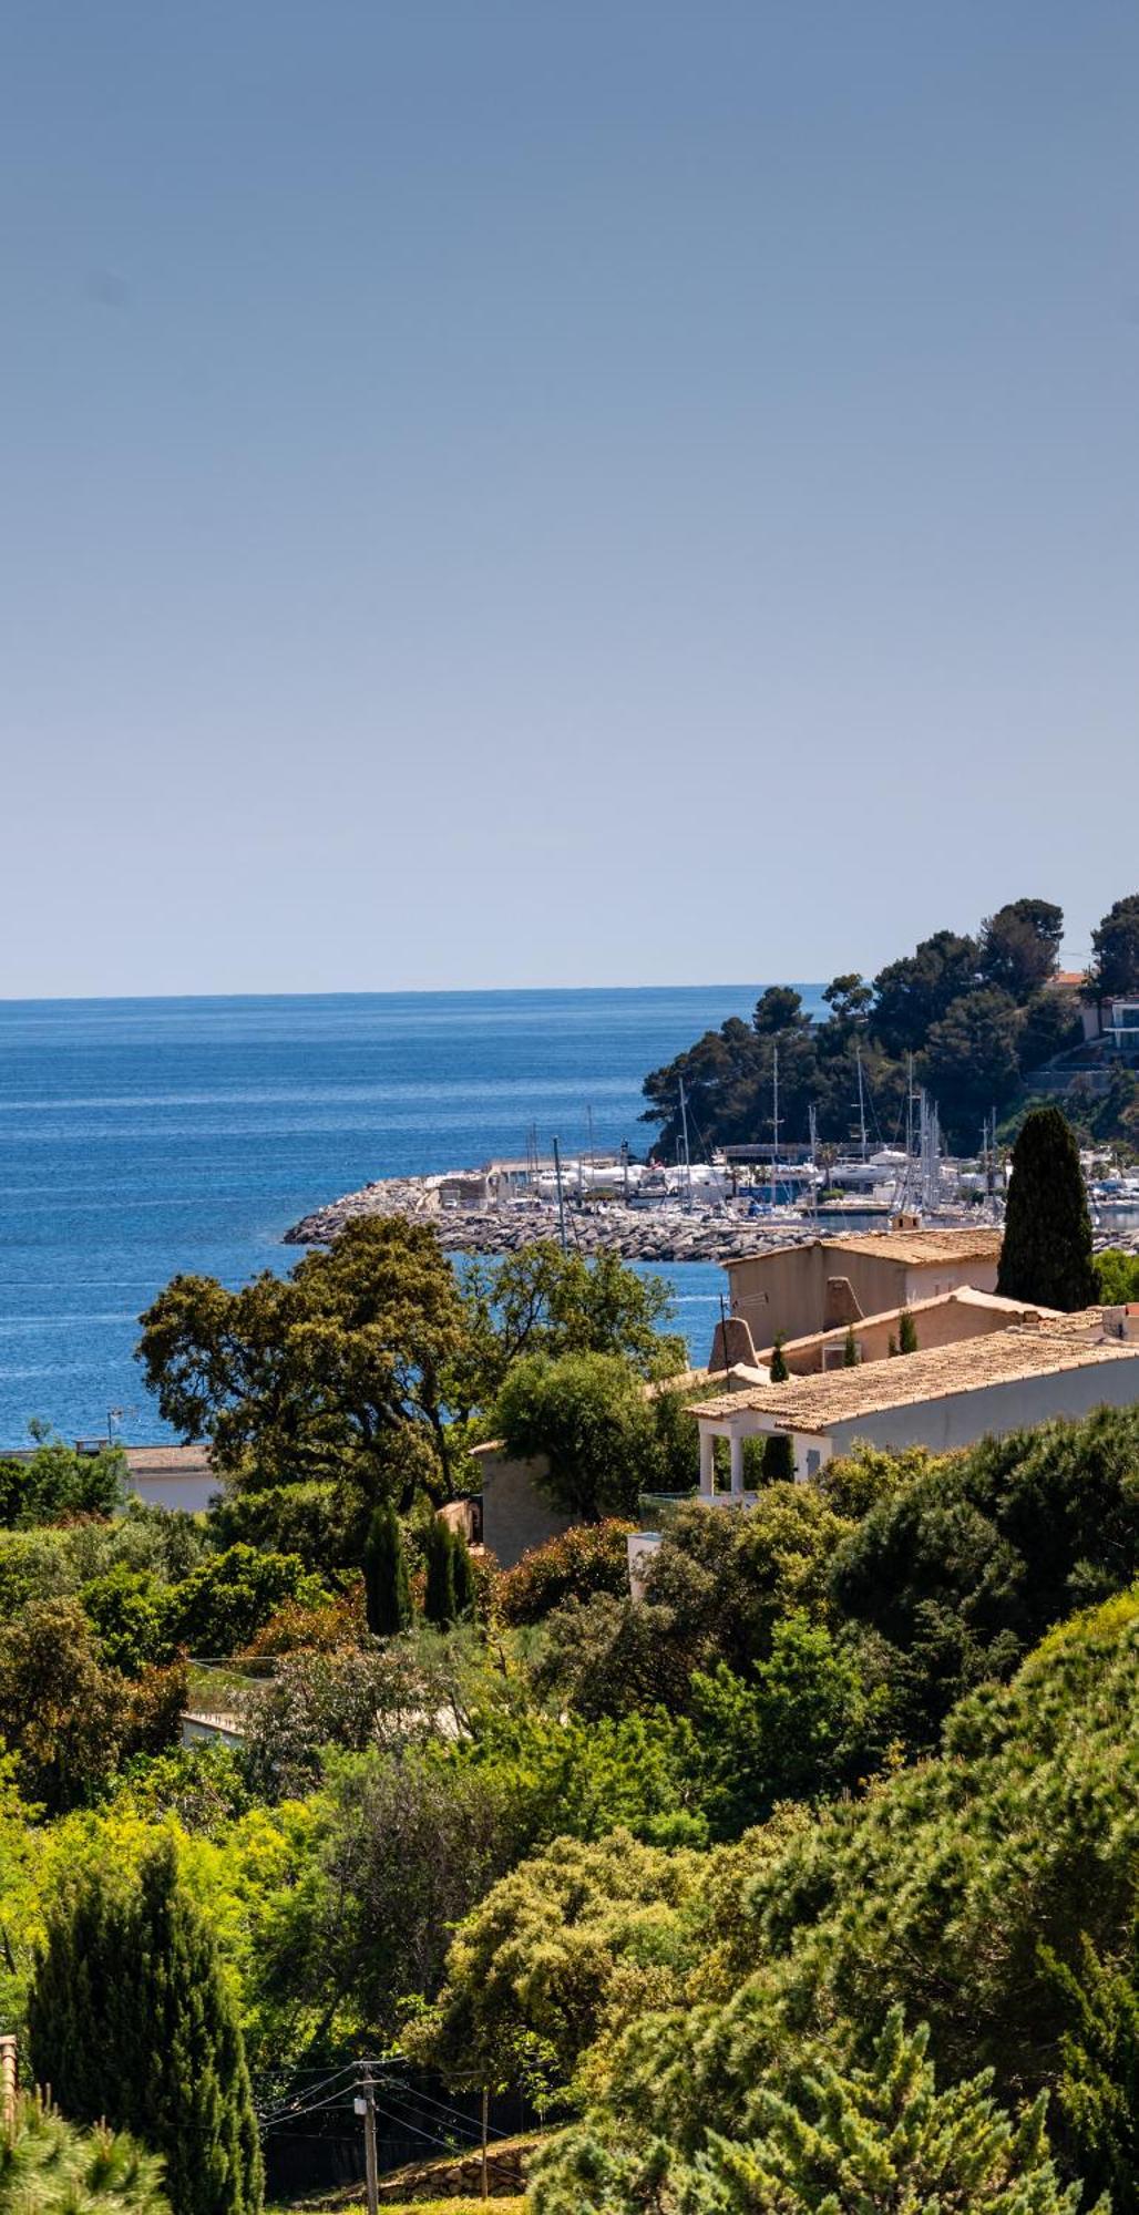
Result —
<svg viewBox="0 0 1139 2215"><path fill-rule="evenodd" d="M171 2215L162 2162L126 2131L78 2131L40 2095L0 2133L0 2215Z"/></svg>

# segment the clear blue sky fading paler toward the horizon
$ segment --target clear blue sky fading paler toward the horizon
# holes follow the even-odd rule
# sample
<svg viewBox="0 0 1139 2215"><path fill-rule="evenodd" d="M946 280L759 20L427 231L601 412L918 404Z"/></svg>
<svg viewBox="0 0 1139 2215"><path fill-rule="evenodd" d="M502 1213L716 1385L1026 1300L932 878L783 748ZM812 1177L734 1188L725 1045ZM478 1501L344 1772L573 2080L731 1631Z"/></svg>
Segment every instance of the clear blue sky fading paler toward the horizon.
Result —
<svg viewBox="0 0 1139 2215"><path fill-rule="evenodd" d="M0 995L1139 890L1132 0L4 0Z"/></svg>

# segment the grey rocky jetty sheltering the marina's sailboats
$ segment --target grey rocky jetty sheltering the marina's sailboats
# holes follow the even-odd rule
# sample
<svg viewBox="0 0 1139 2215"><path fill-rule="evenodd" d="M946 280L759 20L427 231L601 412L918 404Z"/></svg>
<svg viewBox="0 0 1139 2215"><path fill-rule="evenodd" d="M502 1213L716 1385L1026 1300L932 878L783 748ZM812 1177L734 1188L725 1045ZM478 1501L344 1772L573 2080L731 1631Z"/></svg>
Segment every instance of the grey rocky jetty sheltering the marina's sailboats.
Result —
<svg viewBox="0 0 1139 2215"><path fill-rule="evenodd" d="M474 1176L474 1172L472 1172ZM448 1207L445 1176L390 1176L341 1201L317 1207L286 1232L286 1245L330 1245L357 1216L403 1216L425 1223L448 1254L516 1254L534 1238L558 1236L550 1201ZM616 1247L623 1260L733 1260L769 1245L793 1245L813 1229L796 1223L756 1223L745 1214L685 1214L680 1207L623 1207L618 1201L567 1205L570 1245L581 1254Z"/></svg>

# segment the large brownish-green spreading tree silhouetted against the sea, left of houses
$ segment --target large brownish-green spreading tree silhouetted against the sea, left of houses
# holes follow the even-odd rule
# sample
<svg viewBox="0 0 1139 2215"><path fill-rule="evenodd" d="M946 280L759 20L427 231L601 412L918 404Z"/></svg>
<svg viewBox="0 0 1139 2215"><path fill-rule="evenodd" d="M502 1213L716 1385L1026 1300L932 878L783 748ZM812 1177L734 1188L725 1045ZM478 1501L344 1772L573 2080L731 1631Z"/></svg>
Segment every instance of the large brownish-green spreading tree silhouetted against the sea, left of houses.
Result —
<svg viewBox="0 0 1139 2215"><path fill-rule="evenodd" d="M463 1302L434 1232L361 1216L288 1278L175 1276L142 1316L151 1391L246 1484L350 1477L370 1500L450 1495L443 1376Z"/></svg>

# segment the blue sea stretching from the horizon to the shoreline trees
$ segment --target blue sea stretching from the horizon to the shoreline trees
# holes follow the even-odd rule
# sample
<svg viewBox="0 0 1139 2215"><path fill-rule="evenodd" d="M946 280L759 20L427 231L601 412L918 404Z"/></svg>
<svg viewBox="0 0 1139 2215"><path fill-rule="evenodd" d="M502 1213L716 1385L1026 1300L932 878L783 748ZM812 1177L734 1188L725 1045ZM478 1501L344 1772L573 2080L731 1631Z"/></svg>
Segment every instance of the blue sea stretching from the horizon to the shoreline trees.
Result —
<svg viewBox="0 0 1139 2215"><path fill-rule="evenodd" d="M372 1176L651 1143L640 1081L760 986L0 1003L0 1446L164 1435L133 1347L179 1269L288 1269ZM811 988L807 1006L818 1003ZM722 1276L665 1271L705 1358Z"/></svg>

